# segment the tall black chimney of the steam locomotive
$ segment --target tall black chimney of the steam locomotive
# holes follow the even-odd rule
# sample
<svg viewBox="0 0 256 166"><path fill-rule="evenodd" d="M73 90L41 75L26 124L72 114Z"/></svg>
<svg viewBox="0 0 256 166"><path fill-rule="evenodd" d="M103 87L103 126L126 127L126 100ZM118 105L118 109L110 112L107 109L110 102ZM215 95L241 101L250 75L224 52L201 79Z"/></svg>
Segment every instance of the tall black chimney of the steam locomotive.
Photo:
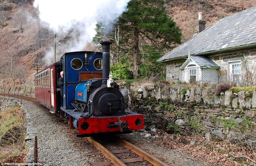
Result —
<svg viewBox="0 0 256 166"><path fill-rule="evenodd" d="M102 41L102 60L103 60L103 73L102 78L108 78L110 72L110 44L109 41ZM102 81L102 85L107 85L107 80Z"/></svg>

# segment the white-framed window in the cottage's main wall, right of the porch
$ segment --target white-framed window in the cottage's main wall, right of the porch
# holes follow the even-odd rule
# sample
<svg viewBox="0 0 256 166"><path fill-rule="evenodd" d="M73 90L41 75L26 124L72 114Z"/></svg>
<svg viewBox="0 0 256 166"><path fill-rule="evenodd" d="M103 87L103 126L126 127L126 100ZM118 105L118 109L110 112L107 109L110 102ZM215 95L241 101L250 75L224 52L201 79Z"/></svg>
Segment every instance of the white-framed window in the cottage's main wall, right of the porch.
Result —
<svg viewBox="0 0 256 166"><path fill-rule="evenodd" d="M241 61L229 63L229 76L231 82L239 83L241 80Z"/></svg>

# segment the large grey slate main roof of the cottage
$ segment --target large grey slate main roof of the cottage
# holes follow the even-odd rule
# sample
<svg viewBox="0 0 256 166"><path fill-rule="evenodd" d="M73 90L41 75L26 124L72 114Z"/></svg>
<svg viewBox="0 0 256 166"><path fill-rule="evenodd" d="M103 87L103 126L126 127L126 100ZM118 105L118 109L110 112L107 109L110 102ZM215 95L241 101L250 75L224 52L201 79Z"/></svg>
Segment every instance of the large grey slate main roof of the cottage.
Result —
<svg viewBox="0 0 256 166"><path fill-rule="evenodd" d="M253 43L256 43L256 6L222 18L157 61L186 57L189 50L196 55Z"/></svg>

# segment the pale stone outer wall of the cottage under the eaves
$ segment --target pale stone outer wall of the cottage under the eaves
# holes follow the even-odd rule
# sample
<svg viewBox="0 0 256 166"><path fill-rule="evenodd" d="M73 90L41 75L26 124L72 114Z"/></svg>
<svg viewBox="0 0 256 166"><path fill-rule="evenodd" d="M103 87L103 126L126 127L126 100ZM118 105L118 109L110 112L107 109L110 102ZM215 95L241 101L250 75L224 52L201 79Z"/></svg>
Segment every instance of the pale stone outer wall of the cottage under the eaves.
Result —
<svg viewBox="0 0 256 166"><path fill-rule="evenodd" d="M241 60L242 78L241 85L247 85L249 81L254 81L256 84L256 50L236 51L222 54L215 54L209 56L219 66L219 82L228 80L228 62ZM185 62L184 60L170 61L166 67L167 81L182 81L182 70L180 66ZM251 83L250 83L251 84Z"/></svg>

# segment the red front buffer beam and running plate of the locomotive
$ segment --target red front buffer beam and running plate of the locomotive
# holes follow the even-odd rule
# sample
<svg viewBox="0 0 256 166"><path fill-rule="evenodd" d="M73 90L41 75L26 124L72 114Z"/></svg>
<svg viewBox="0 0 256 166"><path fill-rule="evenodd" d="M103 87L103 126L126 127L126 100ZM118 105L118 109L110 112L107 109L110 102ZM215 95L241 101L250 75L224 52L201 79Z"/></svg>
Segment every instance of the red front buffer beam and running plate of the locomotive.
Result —
<svg viewBox="0 0 256 166"><path fill-rule="evenodd" d="M87 119L81 118L81 112L74 112L73 109L62 110L73 117L74 127L78 134L97 134L108 132L127 133L132 130L144 128L144 116L133 112L126 112L121 116L91 116Z"/></svg>

